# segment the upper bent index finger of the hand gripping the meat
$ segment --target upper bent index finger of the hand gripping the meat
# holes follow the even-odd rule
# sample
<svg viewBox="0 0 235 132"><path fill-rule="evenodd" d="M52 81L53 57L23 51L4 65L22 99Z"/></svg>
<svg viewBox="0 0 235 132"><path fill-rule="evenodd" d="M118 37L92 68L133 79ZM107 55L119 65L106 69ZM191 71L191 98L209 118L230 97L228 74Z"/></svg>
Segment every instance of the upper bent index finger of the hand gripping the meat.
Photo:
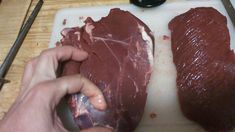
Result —
<svg viewBox="0 0 235 132"><path fill-rule="evenodd" d="M55 79L56 70L60 61L82 61L87 56L87 52L72 46L62 46L45 50L38 57L31 84Z"/></svg>

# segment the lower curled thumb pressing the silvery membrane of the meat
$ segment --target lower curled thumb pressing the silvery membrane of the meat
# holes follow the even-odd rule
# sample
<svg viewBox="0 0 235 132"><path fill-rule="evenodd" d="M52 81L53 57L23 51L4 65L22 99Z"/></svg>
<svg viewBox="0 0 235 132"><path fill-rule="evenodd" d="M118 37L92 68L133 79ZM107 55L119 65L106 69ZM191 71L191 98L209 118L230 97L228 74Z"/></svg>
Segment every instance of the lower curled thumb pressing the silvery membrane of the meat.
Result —
<svg viewBox="0 0 235 132"><path fill-rule="evenodd" d="M41 86L42 85L45 90L43 93L49 97L49 102L53 108L66 94L73 94L77 92L81 92L87 96L95 108L104 110L107 107L100 89L82 75L65 76L44 82Z"/></svg>

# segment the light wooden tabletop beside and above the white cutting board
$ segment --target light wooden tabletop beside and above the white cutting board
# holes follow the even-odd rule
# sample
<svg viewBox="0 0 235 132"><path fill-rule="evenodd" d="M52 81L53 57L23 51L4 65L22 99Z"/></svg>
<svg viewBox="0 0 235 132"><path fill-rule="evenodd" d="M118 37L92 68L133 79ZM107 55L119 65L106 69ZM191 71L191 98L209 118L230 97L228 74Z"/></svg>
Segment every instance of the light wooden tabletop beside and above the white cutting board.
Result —
<svg viewBox="0 0 235 132"><path fill-rule="evenodd" d="M0 119L18 95L20 80L26 62L48 47L54 16L59 9L128 2L128 0L45 0L7 74L6 78L11 80L11 83L6 84L0 92ZM32 1L28 15L36 3L37 0ZM29 4L30 0L3 0L0 4L0 63L2 63L9 47L17 37L24 16L28 16L26 11Z"/></svg>

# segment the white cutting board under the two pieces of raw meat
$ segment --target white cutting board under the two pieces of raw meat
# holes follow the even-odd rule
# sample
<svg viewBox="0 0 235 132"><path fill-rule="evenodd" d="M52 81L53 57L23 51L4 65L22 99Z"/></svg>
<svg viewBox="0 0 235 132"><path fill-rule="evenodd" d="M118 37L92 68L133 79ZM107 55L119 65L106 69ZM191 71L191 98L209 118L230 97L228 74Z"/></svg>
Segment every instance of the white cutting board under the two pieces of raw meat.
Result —
<svg viewBox="0 0 235 132"><path fill-rule="evenodd" d="M173 17L190 8L205 6L216 8L228 18L231 47L235 49L235 28L220 0L168 0L160 7L151 9L143 9L131 4L62 9L56 14L49 47L54 47L55 43L61 39L62 29L82 26L84 18L88 16L99 20L106 16L110 9L116 7L130 11L154 32L156 45L154 71L148 87L145 113L136 132L203 132L200 126L187 120L180 111L170 40L163 40L163 35L170 36L168 23ZM64 19L66 19L66 25L63 25ZM150 118L151 113L156 113L156 118Z"/></svg>

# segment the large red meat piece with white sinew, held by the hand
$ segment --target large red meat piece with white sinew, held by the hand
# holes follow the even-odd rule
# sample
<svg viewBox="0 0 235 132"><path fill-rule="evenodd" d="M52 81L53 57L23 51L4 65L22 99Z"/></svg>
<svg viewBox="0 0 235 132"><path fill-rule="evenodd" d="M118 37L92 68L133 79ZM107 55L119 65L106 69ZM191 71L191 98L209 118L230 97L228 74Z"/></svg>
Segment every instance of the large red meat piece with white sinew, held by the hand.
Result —
<svg viewBox="0 0 235 132"><path fill-rule="evenodd" d="M127 11L112 9L95 22L62 31L62 45L88 52L83 62L66 62L62 75L82 74L103 92L108 109L99 111L78 93L69 97L74 120L81 129L93 126L132 132L144 112L152 72L153 37L150 29ZM80 115L80 116L78 116Z"/></svg>

